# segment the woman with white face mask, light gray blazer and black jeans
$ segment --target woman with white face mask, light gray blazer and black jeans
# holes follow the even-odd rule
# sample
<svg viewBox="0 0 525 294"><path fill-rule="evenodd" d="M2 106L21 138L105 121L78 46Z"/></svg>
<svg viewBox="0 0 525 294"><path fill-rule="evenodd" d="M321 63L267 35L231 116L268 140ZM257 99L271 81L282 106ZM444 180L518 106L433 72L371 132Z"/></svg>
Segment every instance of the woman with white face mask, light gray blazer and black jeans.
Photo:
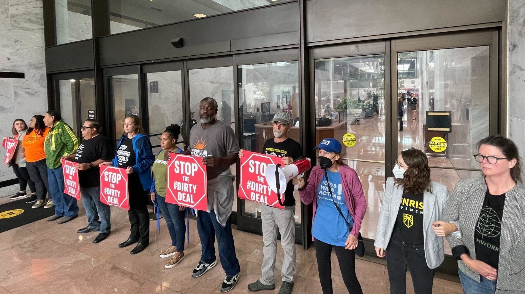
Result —
<svg viewBox="0 0 525 294"><path fill-rule="evenodd" d="M430 180L428 159L415 148L401 152L392 173L381 203L375 253L386 256L391 294L406 292L407 268L415 294L430 294L434 269L445 259L443 237L434 233L432 223L443 216L448 189Z"/></svg>

